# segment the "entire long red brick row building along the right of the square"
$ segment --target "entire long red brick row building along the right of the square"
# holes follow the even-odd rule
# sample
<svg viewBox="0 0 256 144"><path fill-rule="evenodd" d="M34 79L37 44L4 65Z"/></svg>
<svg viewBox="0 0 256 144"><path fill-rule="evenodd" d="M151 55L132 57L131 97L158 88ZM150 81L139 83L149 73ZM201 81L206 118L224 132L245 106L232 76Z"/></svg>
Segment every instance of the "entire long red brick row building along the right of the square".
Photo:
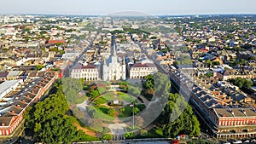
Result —
<svg viewBox="0 0 256 144"><path fill-rule="evenodd" d="M187 96L195 112L205 122L205 129L220 139L246 138L256 136L256 110L254 107L222 106L219 97L195 84L180 71L171 71L172 84L179 87L180 93ZM230 108L229 108L230 107Z"/></svg>

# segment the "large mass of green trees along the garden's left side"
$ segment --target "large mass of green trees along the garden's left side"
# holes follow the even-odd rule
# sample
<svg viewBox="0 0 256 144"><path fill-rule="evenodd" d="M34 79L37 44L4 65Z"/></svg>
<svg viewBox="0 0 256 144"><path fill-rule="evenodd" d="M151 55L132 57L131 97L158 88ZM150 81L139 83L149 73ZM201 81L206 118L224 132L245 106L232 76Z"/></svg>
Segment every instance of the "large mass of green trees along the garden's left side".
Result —
<svg viewBox="0 0 256 144"><path fill-rule="evenodd" d="M68 110L61 84L55 84L55 94L28 107L25 113L25 126L33 132L36 141L45 143L71 143L88 136L73 125L74 118L67 116Z"/></svg>

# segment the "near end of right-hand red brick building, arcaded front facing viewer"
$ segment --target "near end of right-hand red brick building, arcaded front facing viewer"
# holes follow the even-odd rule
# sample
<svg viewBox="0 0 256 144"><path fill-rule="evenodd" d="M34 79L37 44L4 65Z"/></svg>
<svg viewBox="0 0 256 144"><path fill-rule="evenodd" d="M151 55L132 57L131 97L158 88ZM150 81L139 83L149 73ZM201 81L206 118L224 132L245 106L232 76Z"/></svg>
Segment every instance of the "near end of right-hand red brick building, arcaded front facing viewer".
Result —
<svg viewBox="0 0 256 144"><path fill-rule="evenodd" d="M218 138L255 137L256 110L252 108L216 108Z"/></svg>

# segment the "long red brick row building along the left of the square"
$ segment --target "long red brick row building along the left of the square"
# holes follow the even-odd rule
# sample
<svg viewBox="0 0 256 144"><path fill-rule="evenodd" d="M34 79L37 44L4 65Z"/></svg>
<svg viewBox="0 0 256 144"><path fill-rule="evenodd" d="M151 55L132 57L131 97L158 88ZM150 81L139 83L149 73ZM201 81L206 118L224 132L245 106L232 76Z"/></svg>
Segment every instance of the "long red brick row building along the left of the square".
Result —
<svg viewBox="0 0 256 144"><path fill-rule="evenodd" d="M43 78L30 82L15 95L0 110L0 136L12 135L23 119L26 108L36 103L58 78L58 72L47 72Z"/></svg>

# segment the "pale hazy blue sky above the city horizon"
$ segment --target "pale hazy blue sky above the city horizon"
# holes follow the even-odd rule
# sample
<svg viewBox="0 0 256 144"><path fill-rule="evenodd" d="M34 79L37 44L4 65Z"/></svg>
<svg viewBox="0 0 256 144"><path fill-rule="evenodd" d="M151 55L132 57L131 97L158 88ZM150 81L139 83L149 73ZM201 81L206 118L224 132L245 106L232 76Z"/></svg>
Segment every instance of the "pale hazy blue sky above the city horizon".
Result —
<svg viewBox="0 0 256 144"><path fill-rule="evenodd" d="M2 0L0 14L256 14L256 0Z"/></svg>

